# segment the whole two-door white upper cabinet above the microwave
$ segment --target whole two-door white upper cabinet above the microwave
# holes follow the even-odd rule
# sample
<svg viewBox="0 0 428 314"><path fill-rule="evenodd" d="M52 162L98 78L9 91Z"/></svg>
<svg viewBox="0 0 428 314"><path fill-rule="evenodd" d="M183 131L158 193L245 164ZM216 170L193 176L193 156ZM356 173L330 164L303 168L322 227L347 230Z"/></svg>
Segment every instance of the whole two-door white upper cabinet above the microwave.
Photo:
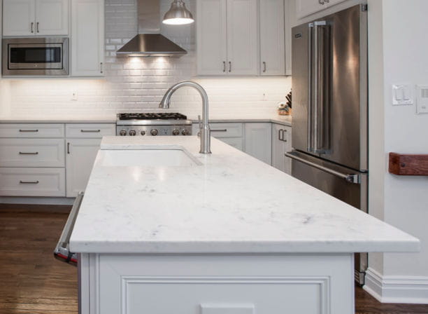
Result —
<svg viewBox="0 0 428 314"><path fill-rule="evenodd" d="M69 34L69 0L3 0L3 36Z"/></svg>

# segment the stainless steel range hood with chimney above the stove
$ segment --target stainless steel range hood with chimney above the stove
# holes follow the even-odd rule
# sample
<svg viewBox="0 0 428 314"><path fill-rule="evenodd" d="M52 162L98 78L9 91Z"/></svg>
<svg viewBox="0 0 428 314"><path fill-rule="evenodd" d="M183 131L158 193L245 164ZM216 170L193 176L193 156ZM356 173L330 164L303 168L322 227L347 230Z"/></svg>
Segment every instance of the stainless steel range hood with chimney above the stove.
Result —
<svg viewBox="0 0 428 314"><path fill-rule="evenodd" d="M159 0L137 0L138 35L117 50L117 57L181 57L186 50L160 32Z"/></svg>

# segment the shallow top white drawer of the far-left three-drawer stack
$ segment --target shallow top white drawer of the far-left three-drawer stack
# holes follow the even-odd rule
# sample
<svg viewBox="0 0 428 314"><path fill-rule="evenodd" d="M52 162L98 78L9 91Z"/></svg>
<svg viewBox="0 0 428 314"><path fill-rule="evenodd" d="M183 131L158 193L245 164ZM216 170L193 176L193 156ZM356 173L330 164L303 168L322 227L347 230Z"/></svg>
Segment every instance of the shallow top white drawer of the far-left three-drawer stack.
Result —
<svg viewBox="0 0 428 314"><path fill-rule="evenodd" d="M0 137L64 137L64 124L1 123Z"/></svg>

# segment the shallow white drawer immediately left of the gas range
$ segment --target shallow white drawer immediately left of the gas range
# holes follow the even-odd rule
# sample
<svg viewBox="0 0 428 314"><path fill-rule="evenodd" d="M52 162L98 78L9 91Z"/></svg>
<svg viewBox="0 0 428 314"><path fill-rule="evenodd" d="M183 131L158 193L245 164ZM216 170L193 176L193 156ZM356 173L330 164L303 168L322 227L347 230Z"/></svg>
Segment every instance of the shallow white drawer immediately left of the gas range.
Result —
<svg viewBox="0 0 428 314"><path fill-rule="evenodd" d="M113 123L66 124L66 137L97 139L112 135L116 135L116 125Z"/></svg>

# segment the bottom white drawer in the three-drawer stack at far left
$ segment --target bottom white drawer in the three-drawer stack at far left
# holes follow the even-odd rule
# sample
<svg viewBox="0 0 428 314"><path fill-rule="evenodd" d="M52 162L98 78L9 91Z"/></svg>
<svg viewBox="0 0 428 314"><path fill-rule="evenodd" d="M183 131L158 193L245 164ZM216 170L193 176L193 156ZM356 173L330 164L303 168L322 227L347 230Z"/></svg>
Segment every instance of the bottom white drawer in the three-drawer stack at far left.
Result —
<svg viewBox="0 0 428 314"><path fill-rule="evenodd" d="M65 170L0 168L0 196L65 196Z"/></svg>

